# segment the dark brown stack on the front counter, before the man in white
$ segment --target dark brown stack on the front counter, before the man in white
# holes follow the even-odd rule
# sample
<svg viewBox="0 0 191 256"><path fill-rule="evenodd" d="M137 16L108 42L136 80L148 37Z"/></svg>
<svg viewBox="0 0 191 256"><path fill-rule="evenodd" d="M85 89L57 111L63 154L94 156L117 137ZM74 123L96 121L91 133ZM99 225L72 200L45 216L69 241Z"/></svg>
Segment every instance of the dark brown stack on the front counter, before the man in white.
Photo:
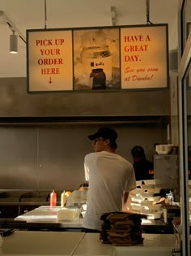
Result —
<svg viewBox="0 0 191 256"><path fill-rule="evenodd" d="M146 215L127 213L122 211L101 215L103 220L100 240L103 244L129 246L142 244L142 219Z"/></svg>

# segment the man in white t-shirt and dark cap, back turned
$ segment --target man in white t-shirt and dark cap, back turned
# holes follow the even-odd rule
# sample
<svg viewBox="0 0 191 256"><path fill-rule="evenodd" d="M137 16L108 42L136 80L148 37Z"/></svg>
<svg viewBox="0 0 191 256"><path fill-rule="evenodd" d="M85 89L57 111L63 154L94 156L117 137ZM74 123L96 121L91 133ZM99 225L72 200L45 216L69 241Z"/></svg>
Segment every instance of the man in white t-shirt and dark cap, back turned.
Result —
<svg viewBox="0 0 191 256"><path fill-rule="evenodd" d="M100 128L88 136L94 153L84 159L86 180L89 180L87 212L83 219L85 232L99 232L100 216L126 209L129 191L136 188L134 167L117 154L117 132Z"/></svg>

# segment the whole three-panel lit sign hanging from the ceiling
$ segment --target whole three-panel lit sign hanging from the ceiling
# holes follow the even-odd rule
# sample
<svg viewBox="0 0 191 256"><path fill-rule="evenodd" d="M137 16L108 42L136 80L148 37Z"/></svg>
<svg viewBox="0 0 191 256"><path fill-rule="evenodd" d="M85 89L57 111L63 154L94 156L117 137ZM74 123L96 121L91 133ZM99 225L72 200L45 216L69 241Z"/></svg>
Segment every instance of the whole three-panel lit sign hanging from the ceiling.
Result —
<svg viewBox="0 0 191 256"><path fill-rule="evenodd" d="M168 25L27 31L28 92L168 87Z"/></svg>

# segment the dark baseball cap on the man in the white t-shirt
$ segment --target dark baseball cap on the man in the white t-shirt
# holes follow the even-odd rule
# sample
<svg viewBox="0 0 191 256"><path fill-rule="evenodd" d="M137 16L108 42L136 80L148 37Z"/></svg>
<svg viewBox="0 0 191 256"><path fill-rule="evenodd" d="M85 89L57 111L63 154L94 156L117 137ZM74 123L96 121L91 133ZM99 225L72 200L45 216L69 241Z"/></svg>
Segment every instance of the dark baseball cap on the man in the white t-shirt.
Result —
<svg viewBox="0 0 191 256"><path fill-rule="evenodd" d="M96 138L103 137L104 140L109 139L110 141L115 142L117 139L117 132L112 128L100 128L96 133L91 134L88 136L88 138L92 141Z"/></svg>

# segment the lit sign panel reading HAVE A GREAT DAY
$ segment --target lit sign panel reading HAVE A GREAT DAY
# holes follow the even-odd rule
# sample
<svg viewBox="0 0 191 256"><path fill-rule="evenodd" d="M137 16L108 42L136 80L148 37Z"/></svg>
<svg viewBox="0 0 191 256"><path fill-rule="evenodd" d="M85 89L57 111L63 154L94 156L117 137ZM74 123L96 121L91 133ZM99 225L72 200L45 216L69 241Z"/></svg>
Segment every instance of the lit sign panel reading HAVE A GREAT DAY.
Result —
<svg viewBox="0 0 191 256"><path fill-rule="evenodd" d="M121 88L167 87L165 27L121 28Z"/></svg>

